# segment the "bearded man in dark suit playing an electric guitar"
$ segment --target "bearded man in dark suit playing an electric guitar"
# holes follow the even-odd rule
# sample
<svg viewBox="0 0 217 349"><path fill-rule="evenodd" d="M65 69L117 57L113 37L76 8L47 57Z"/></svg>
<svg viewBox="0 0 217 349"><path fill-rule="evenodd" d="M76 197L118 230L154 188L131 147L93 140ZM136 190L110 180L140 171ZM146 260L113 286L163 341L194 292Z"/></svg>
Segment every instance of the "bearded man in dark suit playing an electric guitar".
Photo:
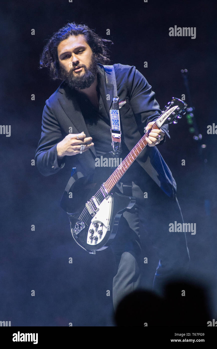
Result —
<svg viewBox="0 0 217 349"><path fill-rule="evenodd" d="M113 86L106 83L103 65L109 64L105 40L86 25L68 23L49 40L40 66L63 82L46 101L41 139L36 151L38 170L49 176L76 167L82 176L95 170L95 159L112 150L109 109ZM120 104L122 159L150 129L161 113L155 94L134 66L114 64ZM122 106L123 105L123 106ZM71 133L71 130L73 133ZM160 257L153 289L162 293L164 282L188 269L185 233L169 232L169 223L183 222L176 198L176 182L160 155L157 144L169 136L168 125L153 130L148 146L116 185L136 203L125 209L111 249L116 261L113 304L140 287L144 257L141 246L147 237ZM144 193L147 193L146 197Z"/></svg>

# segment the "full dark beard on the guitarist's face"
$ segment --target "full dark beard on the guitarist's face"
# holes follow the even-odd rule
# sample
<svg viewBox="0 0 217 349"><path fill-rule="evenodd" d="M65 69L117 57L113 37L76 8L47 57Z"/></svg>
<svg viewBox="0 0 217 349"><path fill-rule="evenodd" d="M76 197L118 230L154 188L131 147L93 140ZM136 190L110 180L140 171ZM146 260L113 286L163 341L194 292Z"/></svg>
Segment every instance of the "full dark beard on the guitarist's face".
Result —
<svg viewBox="0 0 217 349"><path fill-rule="evenodd" d="M84 68L84 73L82 72L82 70L78 73L73 73L72 69L74 69L75 67L76 65L73 66L69 70L69 72L61 67L61 79L65 80L69 87L72 89L83 90L90 87L98 73L98 65L95 56L92 54L91 64L89 68L87 68L85 65L78 65L79 68Z"/></svg>

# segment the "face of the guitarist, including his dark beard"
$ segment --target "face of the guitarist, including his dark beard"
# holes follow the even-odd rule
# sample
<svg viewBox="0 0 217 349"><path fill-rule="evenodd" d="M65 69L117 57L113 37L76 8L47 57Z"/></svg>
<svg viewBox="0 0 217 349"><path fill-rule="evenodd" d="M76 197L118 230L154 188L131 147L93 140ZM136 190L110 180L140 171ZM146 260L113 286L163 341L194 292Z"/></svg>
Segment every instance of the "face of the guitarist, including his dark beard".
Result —
<svg viewBox="0 0 217 349"><path fill-rule="evenodd" d="M98 72L97 62L84 35L70 36L57 46L61 79L71 88L85 89L91 86ZM78 68L75 69L75 68Z"/></svg>

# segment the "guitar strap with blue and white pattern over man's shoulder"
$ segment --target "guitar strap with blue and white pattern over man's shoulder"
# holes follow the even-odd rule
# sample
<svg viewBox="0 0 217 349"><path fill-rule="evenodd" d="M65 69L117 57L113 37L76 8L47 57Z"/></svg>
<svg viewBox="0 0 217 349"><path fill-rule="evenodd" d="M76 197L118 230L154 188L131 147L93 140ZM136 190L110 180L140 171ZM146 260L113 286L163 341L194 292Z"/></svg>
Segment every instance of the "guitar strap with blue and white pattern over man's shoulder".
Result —
<svg viewBox="0 0 217 349"><path fill-rule="evenodd" d="M113 148L113 155L119 156L122 153L121 146L121 125L120 125L120 115L119 115L119 98L117 95L117 85L115 78L115 69L112 65L104 65L104 70L106 73L106 83L112 84L113 90L113 102L109 110L110 123L111 123L111 145Z"/></svg>

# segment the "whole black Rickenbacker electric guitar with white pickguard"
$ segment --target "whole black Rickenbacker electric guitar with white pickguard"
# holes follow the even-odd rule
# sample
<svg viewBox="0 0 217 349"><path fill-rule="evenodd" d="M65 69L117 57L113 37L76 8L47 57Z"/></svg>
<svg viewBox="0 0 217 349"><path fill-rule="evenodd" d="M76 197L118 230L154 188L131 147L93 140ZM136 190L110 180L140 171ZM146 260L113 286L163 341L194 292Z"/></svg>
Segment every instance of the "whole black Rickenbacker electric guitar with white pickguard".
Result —
<svg viewBox="0 0 217 349"><path fill-rule="evenodd" d="M95 254L96 251L104 250L111 244L116 236L123 210L132 208L135 203L133 197L112 193L112 189L147 146L145 138L152 129L160 129L163 125L172 122L177 124L177 119L181 118L180 113L184 114L186 107L185 102L173 97L152 128L144 134L110 177L105 182L100 182L101 185L100 183L87 183L85 177L75 182L72 194L73 213L68 213L68 215L72 236L84 250ZM98 191L95 192L97 188ZM92 195L93 190L94 195ZM87 200L88 198L90 199Z"/></svg>

